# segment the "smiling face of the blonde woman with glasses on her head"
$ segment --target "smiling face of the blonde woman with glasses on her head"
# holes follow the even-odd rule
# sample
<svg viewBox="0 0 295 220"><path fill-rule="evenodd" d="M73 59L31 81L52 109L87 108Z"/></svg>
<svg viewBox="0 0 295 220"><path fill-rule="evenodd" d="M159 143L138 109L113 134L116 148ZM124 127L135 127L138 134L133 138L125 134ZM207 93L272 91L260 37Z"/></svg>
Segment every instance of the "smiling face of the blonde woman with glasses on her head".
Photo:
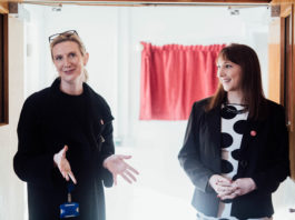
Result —
<svg viewBox="0 0 295 220"><path fill-rule="evenodd" d="M52 58L62 83L69 86L82 83L88 53L82 56L78 43L63 41L56 44L52 48Z"/></svg>

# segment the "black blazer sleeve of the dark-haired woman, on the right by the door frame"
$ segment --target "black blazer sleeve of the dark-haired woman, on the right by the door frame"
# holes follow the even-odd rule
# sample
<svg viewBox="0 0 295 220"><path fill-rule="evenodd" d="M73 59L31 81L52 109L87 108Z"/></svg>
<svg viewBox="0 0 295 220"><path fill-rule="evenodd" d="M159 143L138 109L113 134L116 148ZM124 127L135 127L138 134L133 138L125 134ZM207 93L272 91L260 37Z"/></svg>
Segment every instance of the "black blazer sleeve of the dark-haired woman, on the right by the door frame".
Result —
<svg viewBox="0 0 295 220"><path fill-rule="evenodd" d="M279 183L289 176L289 157L288 157L288 131L285 124L285 110L282 106L276 108L269 117L273 117L272 146L273 152L271 163L263 172L255 173L253 177L257 190L274 192Z"/></svg>

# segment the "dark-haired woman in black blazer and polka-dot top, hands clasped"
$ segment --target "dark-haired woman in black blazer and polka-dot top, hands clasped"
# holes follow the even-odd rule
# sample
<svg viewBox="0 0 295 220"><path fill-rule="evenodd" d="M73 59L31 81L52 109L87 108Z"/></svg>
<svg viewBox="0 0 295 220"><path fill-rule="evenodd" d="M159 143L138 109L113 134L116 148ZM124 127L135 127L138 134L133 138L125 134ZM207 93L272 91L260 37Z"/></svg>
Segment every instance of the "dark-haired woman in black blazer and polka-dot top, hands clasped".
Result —
<svg viewBox="0 0 295 220"><path fill-rule="evenodd" d="M225 47L217 68L218 89L194 103L178 154L191 203L198 220L271 220L272 193L289 174L285 110L264 97L248 46Z"/></svg>

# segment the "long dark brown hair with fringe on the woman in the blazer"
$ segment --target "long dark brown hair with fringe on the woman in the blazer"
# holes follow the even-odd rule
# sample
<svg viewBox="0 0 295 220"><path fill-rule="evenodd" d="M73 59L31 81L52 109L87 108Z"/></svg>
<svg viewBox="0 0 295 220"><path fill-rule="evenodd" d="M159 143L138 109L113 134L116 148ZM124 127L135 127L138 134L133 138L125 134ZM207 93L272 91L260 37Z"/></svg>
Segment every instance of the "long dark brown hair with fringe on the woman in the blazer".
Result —
<svg viewBox="0 0 295 220"><path fill-rule="evenodd" d="M234 62L242 68L242 92L244 102L248 104L249 118L260 118L265 96L262 86L259 60L256 52L248 46L232 43L222 49L217 59L219 58ZM218 89L207 106L207 110L219 107L226 101L226 98L227 92L219 83Z"/></svg>

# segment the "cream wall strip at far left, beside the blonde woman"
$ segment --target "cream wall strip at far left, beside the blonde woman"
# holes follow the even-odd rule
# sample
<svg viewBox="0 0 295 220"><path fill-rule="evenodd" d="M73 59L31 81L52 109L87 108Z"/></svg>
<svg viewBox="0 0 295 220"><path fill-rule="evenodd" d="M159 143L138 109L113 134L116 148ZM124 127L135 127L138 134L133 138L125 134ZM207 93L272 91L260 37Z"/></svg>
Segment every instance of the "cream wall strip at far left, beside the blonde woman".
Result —
<svg viewBox="0 0 295 220"><path fill-rule="evenodd" d="M23 23L9 18L9 124L0 127L0 219L23 220L23 183L12 167L17 123L23 102Z"/></svg>

